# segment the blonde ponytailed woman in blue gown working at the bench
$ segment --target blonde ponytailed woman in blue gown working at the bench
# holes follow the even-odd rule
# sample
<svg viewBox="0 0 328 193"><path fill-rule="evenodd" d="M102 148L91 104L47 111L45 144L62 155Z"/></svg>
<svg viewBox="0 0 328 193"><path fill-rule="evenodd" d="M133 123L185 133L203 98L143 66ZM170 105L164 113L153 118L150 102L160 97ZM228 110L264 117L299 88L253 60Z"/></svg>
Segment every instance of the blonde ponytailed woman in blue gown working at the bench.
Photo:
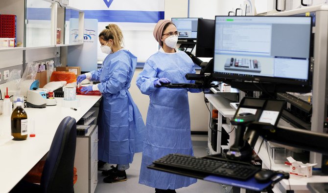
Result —
<svg viewBox="0 0 328 193"><path fill-rule="evenodd" d="M102 93L98 115L98 159L116 167L102 174L108 175L104 182L127 180L125 170L132 163L134 153L141 152L144 139L144 123L141 113L129 92L130 82L137 65L137 57L125 50L123 35L116 24L109 24L99 34L101 51L108 54L100 69L78 76L77 83L84 79L100 81L81 91L99 90Z"/></svg>

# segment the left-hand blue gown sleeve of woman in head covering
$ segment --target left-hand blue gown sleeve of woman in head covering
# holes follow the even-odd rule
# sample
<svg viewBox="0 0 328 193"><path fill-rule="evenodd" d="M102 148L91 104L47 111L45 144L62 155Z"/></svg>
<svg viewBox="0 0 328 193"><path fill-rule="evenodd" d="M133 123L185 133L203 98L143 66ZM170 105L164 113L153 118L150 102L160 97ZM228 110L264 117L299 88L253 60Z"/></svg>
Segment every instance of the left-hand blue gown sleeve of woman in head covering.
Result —
<svg viewBox="0 0 328 193"><path fill-rule="evenodd" d="M150 65L150 62L147 61L137 78L137 86L142 94L150 95L156 89L154 82L159 79L156 76L157 71Z"/></svg>

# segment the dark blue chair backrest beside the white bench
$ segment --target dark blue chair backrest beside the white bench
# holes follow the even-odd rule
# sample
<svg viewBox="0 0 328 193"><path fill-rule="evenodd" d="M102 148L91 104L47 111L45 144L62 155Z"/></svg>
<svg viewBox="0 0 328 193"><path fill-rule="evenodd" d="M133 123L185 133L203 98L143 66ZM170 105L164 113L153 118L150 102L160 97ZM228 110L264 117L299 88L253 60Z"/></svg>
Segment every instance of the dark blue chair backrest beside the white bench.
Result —
<svg viewBox="0 0 328 193"><path fill-rule="evenodd" d="M41 176L43 193L73 193L76 120L65 117L53 137Z"/></svg>

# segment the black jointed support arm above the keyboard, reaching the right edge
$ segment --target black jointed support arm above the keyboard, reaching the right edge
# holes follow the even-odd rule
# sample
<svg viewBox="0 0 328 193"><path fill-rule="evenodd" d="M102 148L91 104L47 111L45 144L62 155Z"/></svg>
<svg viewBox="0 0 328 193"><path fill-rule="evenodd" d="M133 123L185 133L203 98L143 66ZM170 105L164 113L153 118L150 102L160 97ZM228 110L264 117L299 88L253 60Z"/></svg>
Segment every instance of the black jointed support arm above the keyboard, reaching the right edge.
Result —
<svg viewBox="0 0 328 193"><path fill-rule="evenodd" d="M230 159L249 161L252 157L252 151L249 150L254 149L258 136L278 144L328 155L327 133L287 127L274 128L271 124L253 122L248 126L238 125L235 136L235 143L227 152Z"/></svg>

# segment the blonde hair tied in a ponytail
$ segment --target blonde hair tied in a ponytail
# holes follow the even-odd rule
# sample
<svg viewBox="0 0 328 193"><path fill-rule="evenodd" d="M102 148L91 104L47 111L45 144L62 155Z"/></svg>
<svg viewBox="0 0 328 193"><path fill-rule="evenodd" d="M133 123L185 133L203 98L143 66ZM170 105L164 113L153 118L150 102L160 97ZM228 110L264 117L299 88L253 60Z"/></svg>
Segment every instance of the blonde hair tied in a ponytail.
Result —
<svg viewBox="0 0 328 193"><path fill-rule="evenodd" d="M122 46L123 45L123 34L121 29L117 26L117 24L110 23L106 26L106 29L102 30L99 34L99 38L104 41L113 40L114 46Z"/></svg>

